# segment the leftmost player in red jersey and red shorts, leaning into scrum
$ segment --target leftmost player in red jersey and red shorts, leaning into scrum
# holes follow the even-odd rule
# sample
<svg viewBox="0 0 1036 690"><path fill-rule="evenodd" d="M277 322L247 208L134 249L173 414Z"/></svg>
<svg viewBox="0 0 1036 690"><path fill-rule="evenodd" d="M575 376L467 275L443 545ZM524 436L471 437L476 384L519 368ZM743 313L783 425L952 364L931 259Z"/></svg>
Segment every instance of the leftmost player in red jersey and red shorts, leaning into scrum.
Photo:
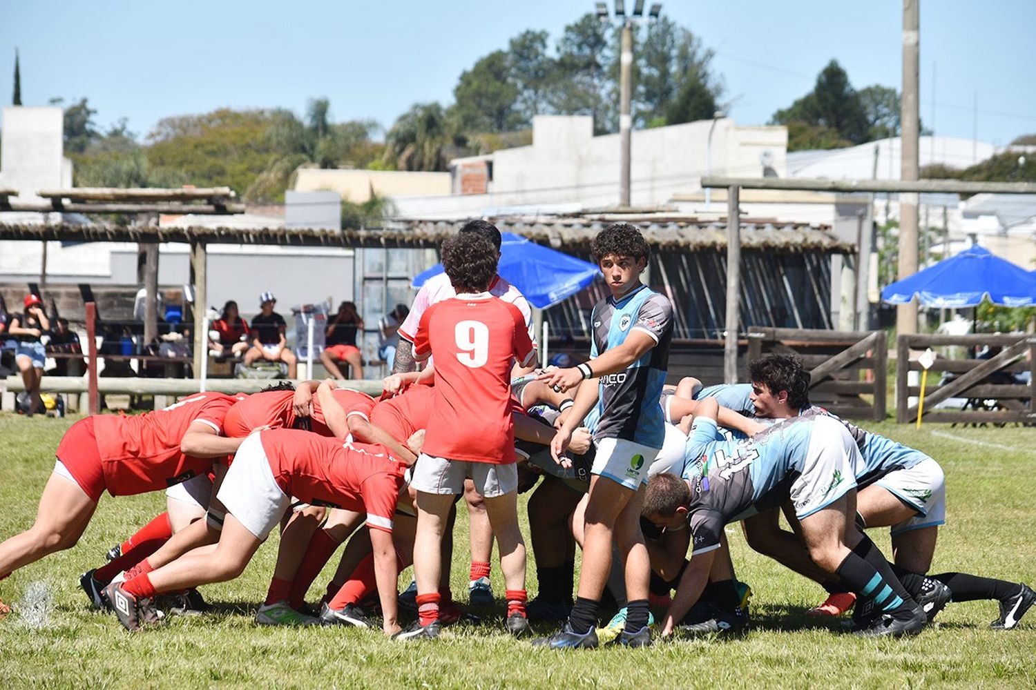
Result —
<svg viewBox="0 0 1036 690"><path fill-rule="evenodd" d="M35 523L0 543L0 578L74 546L106 490L145 493L210 472L241 443L222 436L233 403L223 393L198 393L136 417L93 415L73 424L55 452Z"/></svg>

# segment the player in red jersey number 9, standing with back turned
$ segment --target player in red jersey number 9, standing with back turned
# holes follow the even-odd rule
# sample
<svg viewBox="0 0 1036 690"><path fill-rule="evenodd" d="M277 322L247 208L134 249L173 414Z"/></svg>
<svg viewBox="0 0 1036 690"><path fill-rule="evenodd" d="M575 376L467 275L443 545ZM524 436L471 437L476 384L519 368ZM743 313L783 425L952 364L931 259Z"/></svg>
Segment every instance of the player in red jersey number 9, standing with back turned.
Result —
<svg viewBox="0 0 1036 690"><path fill-rule="evenodd" d="M487 291L496 274L496 248L476 233L442 243L442 266L457 297L421 318L414 355L435 357L435 404L414 466L418 533L414 572L420 619L399 639L435 637L440 595L440 546L454 498L470 478L485 499L507 584L508 629L528 631L525 545L518 529L518 471L511 420L512 362L528 365L536 348L521 312Z"/></svg>

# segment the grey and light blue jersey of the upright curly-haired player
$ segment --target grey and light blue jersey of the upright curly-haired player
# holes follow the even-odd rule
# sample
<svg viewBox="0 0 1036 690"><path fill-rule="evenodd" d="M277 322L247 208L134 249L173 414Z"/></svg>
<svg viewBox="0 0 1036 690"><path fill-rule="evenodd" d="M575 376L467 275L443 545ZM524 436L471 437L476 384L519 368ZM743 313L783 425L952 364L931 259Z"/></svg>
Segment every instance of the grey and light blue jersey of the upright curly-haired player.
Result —
<svg viewBox="0 0 1036 690"><path fill-rule="evenodd" d="M592 322L591 358L621 346L632 331L642 331L656 342L625 370L599 378L600 420L594 438L623 439L661 448L665 420L658 400L672 339L672 304L664 295L640 286L618 300L608 297L598 302Z"/></svg>

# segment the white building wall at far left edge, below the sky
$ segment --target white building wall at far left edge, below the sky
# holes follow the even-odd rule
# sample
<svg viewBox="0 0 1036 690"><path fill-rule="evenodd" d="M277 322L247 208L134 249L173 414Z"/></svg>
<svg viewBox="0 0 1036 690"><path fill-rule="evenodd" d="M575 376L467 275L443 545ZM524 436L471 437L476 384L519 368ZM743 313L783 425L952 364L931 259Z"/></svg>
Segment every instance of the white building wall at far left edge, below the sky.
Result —
<svg viewBox="0 0 1036 690"><path fill-rule="evenodd" d="M71 186L71 161L62 157L64 111L60 108L3 109L0 186L18 189L20 202L42 201L40 189Z"/></svg>

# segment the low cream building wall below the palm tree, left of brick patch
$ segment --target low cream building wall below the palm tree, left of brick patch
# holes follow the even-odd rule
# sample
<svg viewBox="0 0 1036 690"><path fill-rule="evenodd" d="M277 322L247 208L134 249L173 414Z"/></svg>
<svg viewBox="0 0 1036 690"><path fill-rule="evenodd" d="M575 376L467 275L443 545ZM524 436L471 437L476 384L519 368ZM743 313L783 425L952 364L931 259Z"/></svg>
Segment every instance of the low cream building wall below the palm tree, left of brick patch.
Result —
<svg viewBox="0 0 1036 690"><path fill-rule="evenodd" d="M450 180L450 173L300 168L295 191L337 191L342 199L363 204L370 200L372 189L380 197L449 194Z"/></svg>

